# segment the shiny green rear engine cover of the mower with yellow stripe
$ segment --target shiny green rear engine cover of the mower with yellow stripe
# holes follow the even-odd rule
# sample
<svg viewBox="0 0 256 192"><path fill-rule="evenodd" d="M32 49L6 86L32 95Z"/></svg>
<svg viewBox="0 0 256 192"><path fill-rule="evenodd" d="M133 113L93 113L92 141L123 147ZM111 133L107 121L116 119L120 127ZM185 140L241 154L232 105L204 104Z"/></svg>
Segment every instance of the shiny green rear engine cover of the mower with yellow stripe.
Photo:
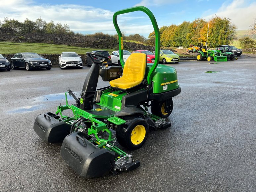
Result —
<svg viewBox="0 0 256 192"><path fill-rule="evenodd" d="M147 64L147 73L152 64ZM163 93L179 88L176 69L166 65L158 65L153 73L153 93Z"/></svg>

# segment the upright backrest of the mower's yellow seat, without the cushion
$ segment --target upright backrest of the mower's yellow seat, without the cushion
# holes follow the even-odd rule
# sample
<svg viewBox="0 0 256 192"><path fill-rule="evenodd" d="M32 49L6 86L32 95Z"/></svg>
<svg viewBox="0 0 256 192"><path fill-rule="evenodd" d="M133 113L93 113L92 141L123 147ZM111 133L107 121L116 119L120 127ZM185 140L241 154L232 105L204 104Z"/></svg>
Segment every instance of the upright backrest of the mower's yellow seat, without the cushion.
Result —
<svg viewBox="0 0 256 192"><path fill-rule="evenodd" d="M145 53L132 53L125 62L123 78L130 81L142 82L145 78L147 55Z"/></svg>

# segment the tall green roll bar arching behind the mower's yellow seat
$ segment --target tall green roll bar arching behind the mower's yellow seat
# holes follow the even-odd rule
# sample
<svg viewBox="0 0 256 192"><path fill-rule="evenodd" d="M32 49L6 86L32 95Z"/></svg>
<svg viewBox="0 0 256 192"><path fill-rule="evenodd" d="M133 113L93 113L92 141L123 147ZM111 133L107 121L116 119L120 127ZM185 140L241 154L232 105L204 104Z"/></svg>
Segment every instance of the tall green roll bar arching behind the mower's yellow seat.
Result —
<svg viewBox="0 0 256 192"><path fill-rule="evenodd" d="M154 62L153 66L150 69L150 71L148 73L148 76L147 76L147 82L150 85L151 81L152 81L153 72L155 71L155 69L157 68L157 65L159 63L160 32L159 32L158 25L156 23L155 16L153 15L153 13L148 8L146 8L144 6L137 6L137 7L132 7L132 8L128 8L128 9L123 9L123 10L117 11L113 15L113 23L114 23L114 26L116 28L116 31L117 31L117 34L118 34L118 37L119 37L120 62L121 62L122 67L124 68L125 62L124 62L124 57L123 57L123 50L124 50L123 36L122 36L120 28L117 24L117 16L121 15L121 14L125 14L125 13L134 12L134 11L142 11L142 12L146 13L148 15L149 19L151 20L151 23L152 23L152 25L154 27L154 30L155 30L155 35L156 35L155 62Z"/></svg>

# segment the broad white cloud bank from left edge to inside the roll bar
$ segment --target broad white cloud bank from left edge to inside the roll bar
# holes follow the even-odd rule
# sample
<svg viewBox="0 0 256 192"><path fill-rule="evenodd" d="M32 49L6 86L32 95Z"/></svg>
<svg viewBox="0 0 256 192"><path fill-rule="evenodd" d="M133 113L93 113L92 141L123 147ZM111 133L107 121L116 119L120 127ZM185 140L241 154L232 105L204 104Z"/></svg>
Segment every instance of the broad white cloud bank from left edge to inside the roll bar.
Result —
<svg viewBox="0 0 256 192"><path fill-rule="evenodd" d="M53 20L55 23L66 23L70 29L81 33L104 33L115 34L116 30L112 21L114 12L98 9L91 6L80 6L74 4L36 4L32 0L0 0L0 21L4 17L24 22L26 18L35 21L41 17L46 22ZM17 6L19 5L19 6ZM143 16L132 16L129 14L118 17L118 24L121 31L126 34L140 33L147 36L152 32L151 25L131 24L131 21L143 21ZM136 20L135 20L136 19ZM138 20L140 19L140 20Z"/></svg>

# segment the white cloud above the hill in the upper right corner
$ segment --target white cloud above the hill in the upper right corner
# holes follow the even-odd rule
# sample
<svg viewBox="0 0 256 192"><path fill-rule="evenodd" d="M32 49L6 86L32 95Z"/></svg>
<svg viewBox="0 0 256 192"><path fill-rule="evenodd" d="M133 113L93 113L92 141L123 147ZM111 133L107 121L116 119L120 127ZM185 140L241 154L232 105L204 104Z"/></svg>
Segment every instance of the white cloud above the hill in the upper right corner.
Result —
<svg viewBox="0 0 256 192"><path fill-rule="evenodd" d="M248 5L245 0L233 0L231 3L229 1L224 2L216 13L203 18L209 20L215 15L218 17L226 17L237 26L238 30L249 29L249 26L253 23L253 18L256 17L255 10L256 2ZM207 12L204 12L203 16L206 14Z"/></svg>

